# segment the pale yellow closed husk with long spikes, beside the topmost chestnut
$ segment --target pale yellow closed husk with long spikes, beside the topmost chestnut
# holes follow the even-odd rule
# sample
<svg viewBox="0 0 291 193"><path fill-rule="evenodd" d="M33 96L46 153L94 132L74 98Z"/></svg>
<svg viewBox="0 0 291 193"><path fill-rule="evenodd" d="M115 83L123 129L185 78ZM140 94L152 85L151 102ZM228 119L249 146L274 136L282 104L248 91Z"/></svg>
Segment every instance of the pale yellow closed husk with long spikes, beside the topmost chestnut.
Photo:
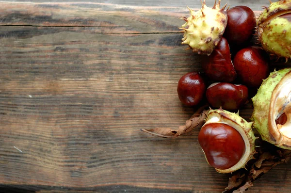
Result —
<svg viewBox="0 0 291 193"><path fill-rule="evenodd" d="M191 16L181 17L186 21L179 28L184 32L182 44L188 44L195 53L210 55L226 29L225 8L226 5L220 9L220 0L217 4L215 0L213 7L207 7L204 0L202 8L196 12L189 8Z"/></svg>

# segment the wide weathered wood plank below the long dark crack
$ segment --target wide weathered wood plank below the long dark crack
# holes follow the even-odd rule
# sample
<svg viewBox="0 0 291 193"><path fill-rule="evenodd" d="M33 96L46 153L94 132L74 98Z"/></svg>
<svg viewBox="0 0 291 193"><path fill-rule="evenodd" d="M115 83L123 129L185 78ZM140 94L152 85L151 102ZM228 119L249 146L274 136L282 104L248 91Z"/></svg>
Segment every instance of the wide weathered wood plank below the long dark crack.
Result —
<svg viewBox="0 0 291 193"><path fill-rule="evenodd" d="M1 27L10 34L0 40L1 183L188 191L225 186L226 176L213 172L201 152L185 153L200 151L197 131L179 140L140 132L177 127L192 113L179 103L175 85L186 71L201 69L180 46L180 33L40 29ZM204 177L199 168L207 171ZM210 177L225 180L199 183Z"/></svg>

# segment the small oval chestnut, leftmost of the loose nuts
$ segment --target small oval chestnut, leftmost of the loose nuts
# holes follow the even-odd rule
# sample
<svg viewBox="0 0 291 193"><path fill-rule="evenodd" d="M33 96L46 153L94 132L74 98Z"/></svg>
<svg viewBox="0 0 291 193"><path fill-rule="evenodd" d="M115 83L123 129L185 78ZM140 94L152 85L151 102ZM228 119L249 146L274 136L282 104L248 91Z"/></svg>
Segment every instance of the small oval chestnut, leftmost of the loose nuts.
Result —
<svg viewBox="0 0 291 193"><path fill-rule="evenodd" d="M189 72L178 81L178 96L180 101L187 106L200 103L206 91L206 83L200 73Z"/></svg>

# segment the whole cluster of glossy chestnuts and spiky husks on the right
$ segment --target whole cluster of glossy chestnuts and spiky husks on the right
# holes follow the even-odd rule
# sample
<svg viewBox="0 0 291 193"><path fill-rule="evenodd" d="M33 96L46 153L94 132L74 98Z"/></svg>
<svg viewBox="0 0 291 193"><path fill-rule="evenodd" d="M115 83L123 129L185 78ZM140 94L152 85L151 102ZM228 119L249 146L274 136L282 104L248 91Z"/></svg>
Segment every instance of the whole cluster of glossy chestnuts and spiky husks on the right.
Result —
<svg viewBox="0 0 291 193"><path fill-rule="evenodd" d="M256 153L253 129L263 140L291 149L291 68L270 73L270 55L291 57L291 0L271 3L258 20L246 6L221 9L220 0L213 7L204 1L190 14L182 17L182 44L206 57L203 73L182 76L177 91L184 105L199 106L206 99L211 108L198 135L208 163L220 173L245 167ZM249 99L252 122L237 113Z"/></svg>

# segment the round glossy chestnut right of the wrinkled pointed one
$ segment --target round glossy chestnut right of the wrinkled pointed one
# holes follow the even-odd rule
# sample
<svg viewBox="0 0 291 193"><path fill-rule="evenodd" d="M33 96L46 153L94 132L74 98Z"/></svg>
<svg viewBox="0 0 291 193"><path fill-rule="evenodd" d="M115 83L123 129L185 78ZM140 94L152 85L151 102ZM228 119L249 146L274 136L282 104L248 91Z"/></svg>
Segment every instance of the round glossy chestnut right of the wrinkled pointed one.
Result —
<svg viewBox="0 0 291 193"><path fill-rule="evenodd" d="M269 76L269 59L259 47L243 48L233 60L238 79L249 87L259 88L263 79Z"/></svg>

